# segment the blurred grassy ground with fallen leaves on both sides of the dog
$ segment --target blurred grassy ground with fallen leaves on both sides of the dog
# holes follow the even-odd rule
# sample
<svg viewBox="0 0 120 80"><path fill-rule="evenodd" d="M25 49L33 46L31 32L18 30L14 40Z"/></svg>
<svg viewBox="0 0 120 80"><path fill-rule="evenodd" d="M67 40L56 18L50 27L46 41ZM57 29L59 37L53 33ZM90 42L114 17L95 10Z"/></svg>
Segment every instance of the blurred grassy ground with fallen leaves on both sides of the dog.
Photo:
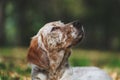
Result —
<svg viewBox="0 0 120 80"><path fill-rule="evenodd" d="M26 55L27 48L0 48L0 80L30 80ZM72 66L97 66L120 74L119 52L74 49L69 60Z"/></svg>

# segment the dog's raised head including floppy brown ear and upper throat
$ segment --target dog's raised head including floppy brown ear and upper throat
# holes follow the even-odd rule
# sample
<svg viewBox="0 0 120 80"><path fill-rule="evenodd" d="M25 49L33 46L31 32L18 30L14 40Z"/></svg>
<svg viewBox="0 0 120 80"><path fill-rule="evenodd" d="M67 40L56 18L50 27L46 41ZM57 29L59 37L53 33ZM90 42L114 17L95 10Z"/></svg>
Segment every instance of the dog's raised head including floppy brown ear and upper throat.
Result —
<svg viewBox="0 0 120 80"><path fill-rule="evenodd" d="M64 24L60 21L43 26L32 40L28 51L28 61L41 68L57 68L64 53L82 40L84 30L79 21ZM67 56L69 57L69 56Z"/></svg>

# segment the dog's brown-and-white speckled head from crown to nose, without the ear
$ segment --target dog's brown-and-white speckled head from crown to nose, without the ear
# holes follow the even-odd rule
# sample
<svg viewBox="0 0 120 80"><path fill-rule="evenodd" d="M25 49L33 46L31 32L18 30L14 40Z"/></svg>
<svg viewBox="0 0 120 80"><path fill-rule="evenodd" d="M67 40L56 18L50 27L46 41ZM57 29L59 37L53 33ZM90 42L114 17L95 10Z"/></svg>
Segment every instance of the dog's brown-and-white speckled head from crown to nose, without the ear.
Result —
<svg viewBox="0 0 120 80"><path fill-rule="evenodd" d="M62 49L77 44L84 30L79 21L64 24L60 21L46 24L38 32L39 44L47 50Z"/></svg>

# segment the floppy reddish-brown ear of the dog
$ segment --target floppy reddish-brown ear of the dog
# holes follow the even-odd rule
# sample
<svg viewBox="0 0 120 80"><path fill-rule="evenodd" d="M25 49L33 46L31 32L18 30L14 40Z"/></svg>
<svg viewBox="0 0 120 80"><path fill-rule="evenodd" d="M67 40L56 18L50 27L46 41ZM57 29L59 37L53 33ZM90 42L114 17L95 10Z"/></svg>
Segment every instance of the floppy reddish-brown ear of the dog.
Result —
<svg viewBox="0 0 120 80"><path fill-rule="evenodd" d="M38 47L38 37L31 40L27 61L43 69L49 68L49 59L47 53Z"/></svg>

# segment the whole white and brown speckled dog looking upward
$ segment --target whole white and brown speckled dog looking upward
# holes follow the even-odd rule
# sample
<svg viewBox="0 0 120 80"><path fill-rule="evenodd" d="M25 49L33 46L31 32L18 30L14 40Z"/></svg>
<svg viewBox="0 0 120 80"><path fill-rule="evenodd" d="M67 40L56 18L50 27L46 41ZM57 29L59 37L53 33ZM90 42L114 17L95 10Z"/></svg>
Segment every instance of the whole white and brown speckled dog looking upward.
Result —
<svg viewBox="0 0 120 80"><path fill-rule="evenodd" d="M71 47L83 36L79 21L67 24L55 21L43 26L32 38L27 55L32 80L112 80L96 67L69 66Z"/></svg>

